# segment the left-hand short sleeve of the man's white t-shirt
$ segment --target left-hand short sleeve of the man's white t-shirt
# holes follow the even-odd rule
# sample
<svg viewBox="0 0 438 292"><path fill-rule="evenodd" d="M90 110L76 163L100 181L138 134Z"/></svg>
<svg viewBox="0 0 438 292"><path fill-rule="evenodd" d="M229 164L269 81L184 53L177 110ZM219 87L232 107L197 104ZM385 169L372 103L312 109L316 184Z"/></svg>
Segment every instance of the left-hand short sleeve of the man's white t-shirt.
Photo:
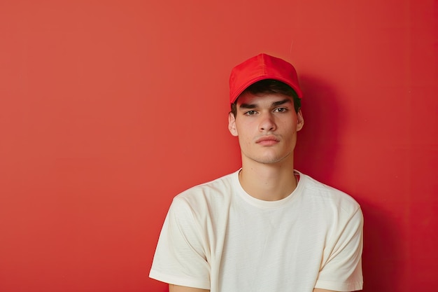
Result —
<svg viewBox="0 0 438 292"><path fill-rule="evenodd" d="M201 228L190 205L175 197L158 239L149 277L169 284L210 288Z"/></svg>

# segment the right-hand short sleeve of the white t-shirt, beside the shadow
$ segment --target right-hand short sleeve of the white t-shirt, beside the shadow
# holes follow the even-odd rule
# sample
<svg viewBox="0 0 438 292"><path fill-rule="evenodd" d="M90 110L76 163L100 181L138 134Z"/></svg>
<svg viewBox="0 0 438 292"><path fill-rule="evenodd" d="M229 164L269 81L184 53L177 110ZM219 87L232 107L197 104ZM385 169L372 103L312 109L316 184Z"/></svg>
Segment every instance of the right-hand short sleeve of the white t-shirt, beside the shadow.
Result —
<svg viewBox="0 0 438 292"><path fill-rule="evenodd" d="M345 214L344 214L345 216ZM342 217L342 215L341 215ZM337 226L315 288L333 291L362 290L363 215L360 208Z"/></svg>

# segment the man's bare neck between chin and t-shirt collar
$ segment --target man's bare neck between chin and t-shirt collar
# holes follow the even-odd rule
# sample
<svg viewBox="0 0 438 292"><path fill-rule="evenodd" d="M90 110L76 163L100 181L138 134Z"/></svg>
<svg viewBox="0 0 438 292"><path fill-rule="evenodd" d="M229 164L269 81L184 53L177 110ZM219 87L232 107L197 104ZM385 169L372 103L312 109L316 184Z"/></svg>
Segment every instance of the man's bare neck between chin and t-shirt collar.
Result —
<svg viewBox="0 0 438 292"><path fill-rule="evenodd" d="M293 162L243 162L239 181L249 195L265 201L281 200L297 187Z"/></svg>

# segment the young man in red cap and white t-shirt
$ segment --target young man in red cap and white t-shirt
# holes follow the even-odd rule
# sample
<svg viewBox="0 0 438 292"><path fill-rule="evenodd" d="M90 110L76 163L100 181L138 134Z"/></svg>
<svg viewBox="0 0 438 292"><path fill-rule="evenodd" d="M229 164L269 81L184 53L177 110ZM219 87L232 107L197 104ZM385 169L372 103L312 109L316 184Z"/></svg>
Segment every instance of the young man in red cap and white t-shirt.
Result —
<svg viewBox="0 0 438 292"><path fill-rule="evenodd" d="M242 167L174 198L150 277L171 292L362 289L362 212L294 169L304 125L291 64L260 54L234 67L229 132Z"/></svg>

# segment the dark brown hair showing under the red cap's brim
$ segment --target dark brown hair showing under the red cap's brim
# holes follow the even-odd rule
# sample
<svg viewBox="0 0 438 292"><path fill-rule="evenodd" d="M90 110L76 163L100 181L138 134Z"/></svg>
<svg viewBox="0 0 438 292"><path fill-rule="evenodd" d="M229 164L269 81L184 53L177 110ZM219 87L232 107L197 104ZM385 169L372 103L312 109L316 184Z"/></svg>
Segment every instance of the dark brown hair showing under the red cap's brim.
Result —
<svg viewBox="0 0 438 292"><path fill-rule="evenodd" d="M257 81L256 83L249 85L248 88L243 90L240 95L243 95L245 92L250 92L253 95L260 95L261 93L279 93L286 95L288 97L292 97L294 108L297 113L299 109L301 109L301 99L298 97L297 92L295 92L295 90L293 90L289 85L278 80L264 79ZM239 97L237 97L237 99L239 99ZM231 112L234 116L236 116L237 113L237 99L231 104Z"/></svg>

